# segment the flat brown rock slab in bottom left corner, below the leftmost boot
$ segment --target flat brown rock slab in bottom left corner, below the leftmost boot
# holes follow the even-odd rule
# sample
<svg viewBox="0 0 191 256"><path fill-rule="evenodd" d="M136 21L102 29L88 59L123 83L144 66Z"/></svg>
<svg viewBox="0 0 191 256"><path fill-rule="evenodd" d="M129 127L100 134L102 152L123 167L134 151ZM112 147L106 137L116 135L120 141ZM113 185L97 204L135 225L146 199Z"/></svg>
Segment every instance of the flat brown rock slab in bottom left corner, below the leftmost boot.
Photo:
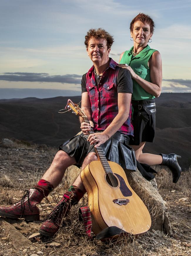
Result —
<svg viewBox="0 0 191 256"><path fill-rule="evenodd" d="M17 231L13 225L6 221L1 221L1 228L7 233L8 241L13 244L14 248L27 247L31 244L26 237L24 237L19 231Z"/></svg>

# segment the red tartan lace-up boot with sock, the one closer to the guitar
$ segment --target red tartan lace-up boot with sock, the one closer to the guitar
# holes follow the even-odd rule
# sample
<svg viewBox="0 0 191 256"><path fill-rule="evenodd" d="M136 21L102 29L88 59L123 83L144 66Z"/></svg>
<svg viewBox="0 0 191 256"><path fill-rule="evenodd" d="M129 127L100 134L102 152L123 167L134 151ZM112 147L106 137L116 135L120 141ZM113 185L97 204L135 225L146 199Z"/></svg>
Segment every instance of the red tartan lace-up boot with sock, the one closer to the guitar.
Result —
<svg viewBox="0 0 191 256"><path fill-rule="evenodd" d="M75 205L83 197L84 193L78 187L70 186L63 195L61 201L43 222L38 232L44 236L54 236L62 226L62 220L66 217L72 205Z"/></svg>

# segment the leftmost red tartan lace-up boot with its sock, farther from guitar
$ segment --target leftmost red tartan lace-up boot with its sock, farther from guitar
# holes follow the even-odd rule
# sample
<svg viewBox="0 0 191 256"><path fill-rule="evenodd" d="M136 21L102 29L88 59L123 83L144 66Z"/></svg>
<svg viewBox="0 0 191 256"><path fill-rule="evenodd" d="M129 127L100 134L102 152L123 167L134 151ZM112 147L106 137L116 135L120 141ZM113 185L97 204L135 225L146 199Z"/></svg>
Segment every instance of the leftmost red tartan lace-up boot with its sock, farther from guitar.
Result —
<svg viewBox="0 0 191 256"><path fill-rule="evenodd" d="M53 186L46 180L39 180L37 185L24 191L24 195L12 206L0 207L0 216L18 219L25 218L26 221L38 221L40 211L36 204L53 190Z"/></svg>

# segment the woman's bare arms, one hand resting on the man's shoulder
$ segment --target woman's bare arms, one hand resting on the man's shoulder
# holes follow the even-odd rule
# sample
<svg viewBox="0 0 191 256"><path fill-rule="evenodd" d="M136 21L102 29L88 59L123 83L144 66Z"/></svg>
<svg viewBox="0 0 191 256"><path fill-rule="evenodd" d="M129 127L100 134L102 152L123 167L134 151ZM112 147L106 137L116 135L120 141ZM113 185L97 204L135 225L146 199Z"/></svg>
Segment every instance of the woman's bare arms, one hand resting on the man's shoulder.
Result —
<svg viewBox="0 0 191 256"><path fill-rule="evenodd" d="M120 59L122 58L122 56L123 53L121 53ZM149 59L151 82L148 82L135 74L130 66L126 67L124 64L119 64L119 66L122 67L122 69L128 69L131 73L131 77L135 79L135 81L146 92L154 95L155 97L160 96L162 86L162 60L158 51L155 51Z"/></svg>

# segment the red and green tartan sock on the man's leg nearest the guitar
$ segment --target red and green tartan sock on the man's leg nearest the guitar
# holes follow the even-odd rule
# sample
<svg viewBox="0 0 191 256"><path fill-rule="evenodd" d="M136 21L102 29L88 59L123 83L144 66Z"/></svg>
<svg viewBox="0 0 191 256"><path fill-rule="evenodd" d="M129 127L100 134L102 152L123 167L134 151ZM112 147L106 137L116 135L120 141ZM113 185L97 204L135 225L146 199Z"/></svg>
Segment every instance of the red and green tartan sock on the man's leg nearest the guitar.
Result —
<svg viewBox="0 0 191 256"><path fill-rule="evenodd" d="M63 198L71 200L71 205L75 205L83 197L84 193L78 187L71 185L69 189L64 193Z"/></svg>

